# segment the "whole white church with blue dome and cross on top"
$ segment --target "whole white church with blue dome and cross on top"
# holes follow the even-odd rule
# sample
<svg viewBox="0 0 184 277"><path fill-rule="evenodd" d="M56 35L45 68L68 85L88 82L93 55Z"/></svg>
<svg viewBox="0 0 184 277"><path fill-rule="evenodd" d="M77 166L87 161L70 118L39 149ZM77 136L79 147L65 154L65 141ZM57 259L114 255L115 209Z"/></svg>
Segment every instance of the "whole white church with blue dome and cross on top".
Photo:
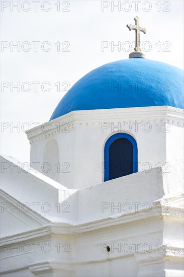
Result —
<svg viewBox="0 0 184 277"><path fill-rule="evenodd" d="M1 157L1 276L183 276L183 72L144 57L86 74Z"/></svg>

